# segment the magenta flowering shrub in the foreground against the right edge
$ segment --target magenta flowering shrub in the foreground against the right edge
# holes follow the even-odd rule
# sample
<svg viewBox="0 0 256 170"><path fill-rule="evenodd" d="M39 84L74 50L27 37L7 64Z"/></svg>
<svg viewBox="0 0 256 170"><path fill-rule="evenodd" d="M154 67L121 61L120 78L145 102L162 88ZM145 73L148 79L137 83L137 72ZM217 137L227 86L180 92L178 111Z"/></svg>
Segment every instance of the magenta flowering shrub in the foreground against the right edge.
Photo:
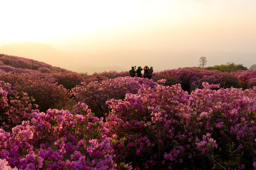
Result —
<svg viewBox="0 0 256 170"><path fill-rule="evenodd" d="M199 128L208 129L218 144L219 149L207 157L219 168L251 169L256 157L256 89L204 87L192 92L190 100L192 108L201 112Z"/></svg>

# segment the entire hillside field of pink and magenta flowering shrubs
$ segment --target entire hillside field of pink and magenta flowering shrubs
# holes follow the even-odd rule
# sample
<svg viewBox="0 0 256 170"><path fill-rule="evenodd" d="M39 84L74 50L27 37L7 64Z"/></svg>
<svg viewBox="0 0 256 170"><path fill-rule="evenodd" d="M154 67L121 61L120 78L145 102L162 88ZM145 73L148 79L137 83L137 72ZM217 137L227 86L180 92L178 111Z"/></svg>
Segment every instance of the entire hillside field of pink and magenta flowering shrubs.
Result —
<svg viewBox="0 0 256 170"><path fill-rule="evenodd" d="M254 170L255 75L181 68L149 80L0 55L0 169Z"/></svg>

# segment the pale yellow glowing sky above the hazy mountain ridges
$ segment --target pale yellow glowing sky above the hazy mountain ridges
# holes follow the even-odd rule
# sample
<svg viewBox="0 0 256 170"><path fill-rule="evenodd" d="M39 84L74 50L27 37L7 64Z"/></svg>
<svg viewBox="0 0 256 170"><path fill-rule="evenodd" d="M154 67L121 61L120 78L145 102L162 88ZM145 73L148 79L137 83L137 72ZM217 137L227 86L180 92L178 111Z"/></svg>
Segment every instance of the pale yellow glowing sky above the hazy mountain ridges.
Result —
<svg viewBox="0 0 256 170"><path fill-rule="evenodd" d="M256 38L255 0L2 0L0 6L0 44Z"/></svg>

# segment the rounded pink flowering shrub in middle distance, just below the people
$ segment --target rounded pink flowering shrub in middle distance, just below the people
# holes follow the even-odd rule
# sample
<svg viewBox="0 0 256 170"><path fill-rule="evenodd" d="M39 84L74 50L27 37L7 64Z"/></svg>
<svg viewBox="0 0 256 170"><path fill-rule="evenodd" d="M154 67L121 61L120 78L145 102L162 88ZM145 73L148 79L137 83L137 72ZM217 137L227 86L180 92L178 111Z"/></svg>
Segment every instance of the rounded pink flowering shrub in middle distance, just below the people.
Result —
<svg viewBox="0 0 256 170"><path fill-rule="evenodd" d="M155 82L139 77L117 77L99 82L85 83L72 89L75 101L86 103L98 117L108 113L107 100L123 99L126 93L137 93L141 84L154 87Z"/></svg>

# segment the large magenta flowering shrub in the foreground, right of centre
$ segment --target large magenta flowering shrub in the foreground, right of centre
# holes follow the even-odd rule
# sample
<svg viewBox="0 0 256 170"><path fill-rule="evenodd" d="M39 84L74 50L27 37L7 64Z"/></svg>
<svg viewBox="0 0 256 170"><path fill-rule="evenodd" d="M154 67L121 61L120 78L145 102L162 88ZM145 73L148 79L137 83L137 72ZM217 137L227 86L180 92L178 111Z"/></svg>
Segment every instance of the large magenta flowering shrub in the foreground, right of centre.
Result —
<svg viewBox="0 0 256 170"><path fill-rule="evenodd" d="M184 129L175 111L183 108L187 95L179 85L155 89L143 86L137 94L127 94L124 101L107 101L112 111L106 127L113 136L117 157L146 169L168 167L169 160L182 162Z"/></svg>

